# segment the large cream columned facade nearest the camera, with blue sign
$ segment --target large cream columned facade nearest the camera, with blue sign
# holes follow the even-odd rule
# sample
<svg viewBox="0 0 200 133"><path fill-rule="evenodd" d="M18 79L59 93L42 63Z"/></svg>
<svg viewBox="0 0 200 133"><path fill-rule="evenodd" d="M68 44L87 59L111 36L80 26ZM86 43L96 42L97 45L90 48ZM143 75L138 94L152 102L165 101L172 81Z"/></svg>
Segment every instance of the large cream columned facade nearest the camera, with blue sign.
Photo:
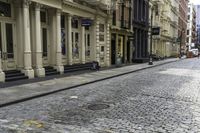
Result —
<svg viewBox="0 0 200 133"><path fill-rule="evenodd" d="M0 81L4 71L29 78L51 66L110 65L109 1L0 0Z"/></svg>

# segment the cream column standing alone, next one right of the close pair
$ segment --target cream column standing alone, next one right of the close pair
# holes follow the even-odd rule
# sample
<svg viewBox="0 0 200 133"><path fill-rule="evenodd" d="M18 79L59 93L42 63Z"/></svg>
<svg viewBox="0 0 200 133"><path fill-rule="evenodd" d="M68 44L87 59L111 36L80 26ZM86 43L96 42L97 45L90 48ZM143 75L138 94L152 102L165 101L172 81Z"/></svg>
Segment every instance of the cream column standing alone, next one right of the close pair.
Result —
<svg viewBox="0 0 200 133"><path fill-rule="evenodd" d="M56 11L56 66L55 68L61 74L64 72L62 64L62 50L61 50L61 11Z"/></svg>

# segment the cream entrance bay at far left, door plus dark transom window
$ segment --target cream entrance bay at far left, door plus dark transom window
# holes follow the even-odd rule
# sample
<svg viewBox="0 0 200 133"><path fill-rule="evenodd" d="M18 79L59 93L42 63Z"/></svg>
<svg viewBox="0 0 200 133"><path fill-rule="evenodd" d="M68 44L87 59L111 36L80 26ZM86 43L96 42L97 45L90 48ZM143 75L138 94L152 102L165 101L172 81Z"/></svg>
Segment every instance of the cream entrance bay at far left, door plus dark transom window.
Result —
<svg viewBox="0 0 200 133"><path fill-rule="evenodd" d="M2 70L16 69L16 22L13 5L0 1L0 51Z"/></svg>

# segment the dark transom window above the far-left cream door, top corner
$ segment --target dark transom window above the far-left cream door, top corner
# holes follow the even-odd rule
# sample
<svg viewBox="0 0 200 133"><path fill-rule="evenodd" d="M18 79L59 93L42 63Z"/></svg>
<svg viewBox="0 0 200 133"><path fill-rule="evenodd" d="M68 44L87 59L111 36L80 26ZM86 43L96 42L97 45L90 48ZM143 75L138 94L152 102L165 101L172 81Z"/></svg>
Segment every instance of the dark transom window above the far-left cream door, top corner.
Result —
<svg viewBox="0 0 200 133"><path fill-rule="evenodd" d="M0 16L11 17L11 5L0 1Z"/></svg>

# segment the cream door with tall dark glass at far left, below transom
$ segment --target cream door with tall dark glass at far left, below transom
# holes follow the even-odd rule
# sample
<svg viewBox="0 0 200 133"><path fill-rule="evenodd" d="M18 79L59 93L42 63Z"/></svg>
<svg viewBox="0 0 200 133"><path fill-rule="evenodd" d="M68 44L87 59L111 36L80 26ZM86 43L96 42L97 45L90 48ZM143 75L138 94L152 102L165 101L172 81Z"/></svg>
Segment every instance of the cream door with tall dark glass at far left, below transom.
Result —
<svg viewBox="0 0 200 133"><path fill-rule="evenodd" d="M14 23L0 21L0 50L4 71L16 69L14 29Z"/></svg>

